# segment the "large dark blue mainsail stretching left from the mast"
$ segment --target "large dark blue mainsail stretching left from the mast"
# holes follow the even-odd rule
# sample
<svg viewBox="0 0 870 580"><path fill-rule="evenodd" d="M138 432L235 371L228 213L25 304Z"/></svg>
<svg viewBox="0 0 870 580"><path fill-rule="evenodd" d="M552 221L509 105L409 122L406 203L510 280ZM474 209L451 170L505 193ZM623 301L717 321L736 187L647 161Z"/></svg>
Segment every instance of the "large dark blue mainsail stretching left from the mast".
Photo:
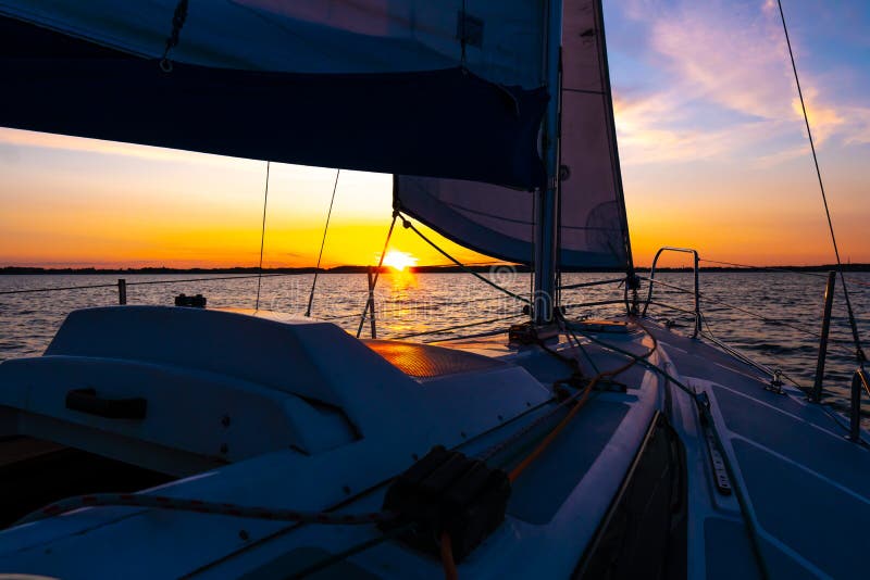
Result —
<svg viewBox="0 0 870 580"><path fill-rule="evenodd" d="M538 0L0 0L0 125L531 187L543 34Z"/></svg>

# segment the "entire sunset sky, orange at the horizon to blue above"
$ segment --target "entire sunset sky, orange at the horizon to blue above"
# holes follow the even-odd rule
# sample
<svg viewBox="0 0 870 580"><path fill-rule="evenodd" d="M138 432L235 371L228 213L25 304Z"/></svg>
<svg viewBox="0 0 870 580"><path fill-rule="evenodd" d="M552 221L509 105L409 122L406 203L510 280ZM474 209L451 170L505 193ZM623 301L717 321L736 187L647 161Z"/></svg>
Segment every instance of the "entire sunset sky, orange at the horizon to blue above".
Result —
<svg viewBox="0 0 870 580"><path fill-rule="evenodd" d="M870 262L870 2L784 0L844 261ZM775 1L605 0L635 263L833 261ZM265 163L0 128L0 265L253 266ZM264 265L316 261L335 169L273 164ZM341 172L323 265L376 261L390 178ZM486 256L445 245L467 262ZM412 232L391 248L444 259Z"/></svg>

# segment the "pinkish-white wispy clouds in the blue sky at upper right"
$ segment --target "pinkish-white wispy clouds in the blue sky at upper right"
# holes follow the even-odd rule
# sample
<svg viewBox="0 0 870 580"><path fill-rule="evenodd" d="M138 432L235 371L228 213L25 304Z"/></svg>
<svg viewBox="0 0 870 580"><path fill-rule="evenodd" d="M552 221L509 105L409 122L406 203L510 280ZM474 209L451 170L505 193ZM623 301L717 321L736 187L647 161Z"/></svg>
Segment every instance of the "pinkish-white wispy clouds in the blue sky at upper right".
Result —
<svg viewBox="0 0 870 580"><path fill-rule="evenodd" d="M656 73L642 90L614 96L620 146L633 162L756 149L753 159L772 163L804 151L798 139L806 130L774 1L633 0L622 10L648 28L635 56ZM832 79L801 73L817 146L870 142L870 108L836 102ZM759 155L758 149L778 151Z"/></svg>

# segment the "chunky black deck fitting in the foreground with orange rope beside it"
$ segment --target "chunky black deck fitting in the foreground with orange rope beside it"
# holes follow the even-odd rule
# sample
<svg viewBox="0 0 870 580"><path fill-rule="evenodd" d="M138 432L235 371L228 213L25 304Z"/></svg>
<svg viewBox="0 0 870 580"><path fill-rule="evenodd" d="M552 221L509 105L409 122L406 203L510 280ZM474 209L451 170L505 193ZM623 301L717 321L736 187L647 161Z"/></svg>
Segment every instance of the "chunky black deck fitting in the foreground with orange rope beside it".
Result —
<svg viewBox="0 0 870 580"><path fill-rule="evenodd" d="M413 524L401 540L436 556L447 534L460 562L505 520L510 491L501 469L438 445L390 484L384 510L398 517L381 527Z"/></svg>

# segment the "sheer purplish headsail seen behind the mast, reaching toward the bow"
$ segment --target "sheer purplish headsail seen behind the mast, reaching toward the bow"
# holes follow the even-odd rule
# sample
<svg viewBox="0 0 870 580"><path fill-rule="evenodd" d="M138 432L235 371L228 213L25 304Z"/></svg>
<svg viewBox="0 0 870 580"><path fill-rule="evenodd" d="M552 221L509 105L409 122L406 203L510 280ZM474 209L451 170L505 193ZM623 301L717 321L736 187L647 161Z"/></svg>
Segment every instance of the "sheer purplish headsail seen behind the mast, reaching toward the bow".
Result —
<svg viewBox="0 0 870 580"><path fill-rule="evenodd" d="M629 268L604 21L599 0L563 0L561 269ZM395 203L484 254L527 264L534 194L457 179L398 176Z"/></svg>

